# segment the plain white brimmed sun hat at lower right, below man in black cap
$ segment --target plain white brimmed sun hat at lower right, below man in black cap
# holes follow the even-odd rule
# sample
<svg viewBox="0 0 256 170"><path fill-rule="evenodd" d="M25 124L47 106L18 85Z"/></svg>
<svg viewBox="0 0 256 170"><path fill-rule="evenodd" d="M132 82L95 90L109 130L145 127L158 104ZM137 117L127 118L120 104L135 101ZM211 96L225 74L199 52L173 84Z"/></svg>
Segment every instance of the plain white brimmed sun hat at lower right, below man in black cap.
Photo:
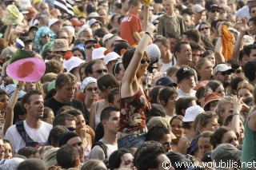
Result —
<svg viewBox="0 0 256 170"><path fill-rule="evenodd" d="M197 117L199 113L203 113L203 112L205 112L204 109L202 109L199 105L190 106L188 109L186 109L183 122L194 121L195 117Z"/></svg>

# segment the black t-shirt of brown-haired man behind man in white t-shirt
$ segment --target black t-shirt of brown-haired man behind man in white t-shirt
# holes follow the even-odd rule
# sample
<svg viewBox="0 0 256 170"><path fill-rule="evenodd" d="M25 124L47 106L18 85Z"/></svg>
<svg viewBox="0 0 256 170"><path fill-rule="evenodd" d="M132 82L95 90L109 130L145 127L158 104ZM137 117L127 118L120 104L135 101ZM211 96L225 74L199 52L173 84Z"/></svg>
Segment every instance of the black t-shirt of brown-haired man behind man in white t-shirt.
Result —
<svg viewBox="0 0 256 170"><path fill-rule="evenodd" d="M86 109L86 105L84 105L82 103L82 101L78 101L77 99L73 99L70 103L61 103L58 102L54 99L54 97L50 97L50 99L47 99L44 102L44 105L50 109L53 109L54 111L54 116L56 117L57 113L58 113L58 109L60 109L62 106L64 105L70 105L72 106L74 109L78 109L82 112L83 117L85 117L86 122L89 121L89 112Z"/></svg>

